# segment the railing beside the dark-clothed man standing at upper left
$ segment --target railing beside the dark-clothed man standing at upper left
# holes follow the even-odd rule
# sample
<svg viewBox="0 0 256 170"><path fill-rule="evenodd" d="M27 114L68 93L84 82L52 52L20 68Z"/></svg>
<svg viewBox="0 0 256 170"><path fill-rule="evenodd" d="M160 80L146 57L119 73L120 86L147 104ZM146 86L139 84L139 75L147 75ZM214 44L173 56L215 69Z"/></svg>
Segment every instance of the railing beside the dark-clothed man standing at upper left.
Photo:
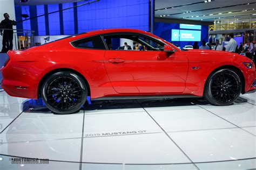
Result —
<svg viewBox="0 0 256 170"><path fill-rule="evenodd" d="M14 49L20 49L21 44L25 48L30 48L35 46L34 33L32 30L21 30L21 29L1 29L1 30L13 30L14 31ZM2 47L2 42L0 42ZM0 49L1 51L1 49Z"/></svg>

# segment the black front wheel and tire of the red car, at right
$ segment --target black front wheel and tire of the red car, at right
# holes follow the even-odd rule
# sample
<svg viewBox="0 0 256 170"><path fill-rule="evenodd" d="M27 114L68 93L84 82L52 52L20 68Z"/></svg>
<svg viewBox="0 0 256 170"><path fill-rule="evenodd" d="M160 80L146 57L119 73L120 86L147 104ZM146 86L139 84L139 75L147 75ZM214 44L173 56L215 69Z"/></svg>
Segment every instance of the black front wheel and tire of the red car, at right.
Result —
<svg viewBox="0 0 256 170"><path fill-rule="evenodd" d="M208 77L204 97L213 105L231 105L237 100L241 90L241 77L232 69L220 69Z"/></svg>

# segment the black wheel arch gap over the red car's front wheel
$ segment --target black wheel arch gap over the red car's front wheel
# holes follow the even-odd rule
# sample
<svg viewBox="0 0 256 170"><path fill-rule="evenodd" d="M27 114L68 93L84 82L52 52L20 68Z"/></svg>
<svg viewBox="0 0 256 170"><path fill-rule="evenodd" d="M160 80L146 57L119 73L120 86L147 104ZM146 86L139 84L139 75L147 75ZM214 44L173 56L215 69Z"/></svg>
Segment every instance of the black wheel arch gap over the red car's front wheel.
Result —
<svg viewBox="0 0 256 170"><path fill-rule="evenodd" d="M217 72L218 70L220 69L231 69L233 70L235 73L237 73L239 75L239 77L241 78L241 82L242 82L242 91L241 93L244 94L245 93L245 76L244 74L242 74L242 71L236 67L236 66L233 66L233 65L223 65L223 66L220 66L220 67L217 67L215 68L207 77L206 81L205 81L205 85L204 85L204 93L205 93L205 86L206 86L206 82L208 81L208 79L210 78L211 74L213 74L214 72ZM205 94L204 94L205 95Z"/></svg>

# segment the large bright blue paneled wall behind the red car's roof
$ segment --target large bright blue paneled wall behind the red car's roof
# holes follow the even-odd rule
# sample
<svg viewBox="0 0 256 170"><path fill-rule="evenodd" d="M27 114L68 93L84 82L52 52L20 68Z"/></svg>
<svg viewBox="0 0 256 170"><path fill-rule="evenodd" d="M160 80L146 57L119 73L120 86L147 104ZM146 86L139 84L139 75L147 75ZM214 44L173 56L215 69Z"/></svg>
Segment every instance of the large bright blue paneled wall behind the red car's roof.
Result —
<svg viewBox="0 0 256 170"><path fill-rule="evenodd" d="M15 6L15 12L18 21L22 19L20 17L22 14L35 17L86 2ZM109 28L149 31L149 6L149 0L101 0L90 5L27 20L17 24L17 29L33 30L35 36L68 35Z"/></svg>

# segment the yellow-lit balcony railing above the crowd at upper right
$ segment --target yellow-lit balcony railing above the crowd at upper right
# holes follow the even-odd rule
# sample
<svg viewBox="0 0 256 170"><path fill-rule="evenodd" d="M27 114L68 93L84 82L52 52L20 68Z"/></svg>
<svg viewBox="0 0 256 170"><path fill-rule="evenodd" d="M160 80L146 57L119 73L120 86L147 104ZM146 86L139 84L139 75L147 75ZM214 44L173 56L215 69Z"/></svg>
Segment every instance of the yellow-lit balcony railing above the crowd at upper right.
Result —
<svg viewBox="0 0 256 170"><path fill-rule="evenodd" d="M256 29L256 22L247 23L233 23L233 24L214 24L209 25L209 31L219 30L242 30L242 29Z"/></svg>

